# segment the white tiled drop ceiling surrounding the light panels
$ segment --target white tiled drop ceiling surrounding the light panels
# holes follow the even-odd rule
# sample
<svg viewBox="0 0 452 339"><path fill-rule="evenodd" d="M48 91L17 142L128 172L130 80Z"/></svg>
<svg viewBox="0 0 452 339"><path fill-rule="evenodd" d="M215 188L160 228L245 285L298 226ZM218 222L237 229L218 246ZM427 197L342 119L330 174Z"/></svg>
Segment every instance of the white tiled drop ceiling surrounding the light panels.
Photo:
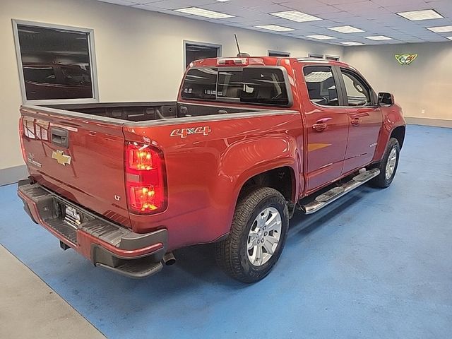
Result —
<svg viewBox="0 0 452 339"><path fill-rule="evenodd" d="M452 0L99 0L111 4L133 6L148 11L158 11L197 20L259 30L256 25L279 25L292 28L290 32L273 34L306 39L306 35L330 35L334 40L324 40L329 44L356 41L365 44L393 44L400 42L448 41L445 33L435 33L428 27L452 25ZM198 7L209 11L229 14L233 18L212 19L179 13L174 9ZM435 20L410 21L396 13L434 9L444 18ZM301 11L323 20L297 23L278 18L269 13ZM352 25L365 32L347 35L328 30L335 26ZM263 31L263 30L260 30ZM271 31L268 31L271 32ZM385 35L394 40L373 41L364 36ZM450 33L449 35L450 36ZM316 40L319 41L319 40Z"/></svg>

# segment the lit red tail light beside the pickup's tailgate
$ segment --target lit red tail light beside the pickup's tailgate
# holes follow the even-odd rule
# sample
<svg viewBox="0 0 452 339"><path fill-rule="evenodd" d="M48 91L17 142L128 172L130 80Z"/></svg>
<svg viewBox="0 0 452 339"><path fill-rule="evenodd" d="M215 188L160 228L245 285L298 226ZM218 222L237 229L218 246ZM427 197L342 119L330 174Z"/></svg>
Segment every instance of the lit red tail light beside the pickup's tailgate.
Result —
<svg viewBox="0 0 452 339"><path fill-rule="evenodd" d="M125 144L126 196L129 210L152 214L167 206L165 162L160 150L143 143Z"/></svg>

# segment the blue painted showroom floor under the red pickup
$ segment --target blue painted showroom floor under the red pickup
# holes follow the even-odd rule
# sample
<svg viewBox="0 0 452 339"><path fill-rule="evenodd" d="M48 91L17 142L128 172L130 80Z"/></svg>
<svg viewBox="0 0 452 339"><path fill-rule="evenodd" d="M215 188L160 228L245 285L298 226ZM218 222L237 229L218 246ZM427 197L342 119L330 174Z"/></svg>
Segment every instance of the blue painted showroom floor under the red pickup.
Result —
<svg viewBox="0 0 452 339"><path fill-rule="evenodd" d="M386 190L363 186L295 215L283 256L256 285L177 251L147 280L94 268L0 188L0 243L109 338L452 338L452 129L408 126Z"/></svg>

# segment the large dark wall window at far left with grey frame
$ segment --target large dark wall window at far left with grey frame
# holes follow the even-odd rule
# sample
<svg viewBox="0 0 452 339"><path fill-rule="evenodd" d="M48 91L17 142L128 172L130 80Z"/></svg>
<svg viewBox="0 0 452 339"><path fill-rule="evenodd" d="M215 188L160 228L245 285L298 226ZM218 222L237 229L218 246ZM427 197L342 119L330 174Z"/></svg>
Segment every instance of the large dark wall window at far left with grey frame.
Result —
<svg viewBox="0 0 452 339"><path fill-rule="evenodd" d="M13 20L24 102L97 101L93 30Z"/></svg>

